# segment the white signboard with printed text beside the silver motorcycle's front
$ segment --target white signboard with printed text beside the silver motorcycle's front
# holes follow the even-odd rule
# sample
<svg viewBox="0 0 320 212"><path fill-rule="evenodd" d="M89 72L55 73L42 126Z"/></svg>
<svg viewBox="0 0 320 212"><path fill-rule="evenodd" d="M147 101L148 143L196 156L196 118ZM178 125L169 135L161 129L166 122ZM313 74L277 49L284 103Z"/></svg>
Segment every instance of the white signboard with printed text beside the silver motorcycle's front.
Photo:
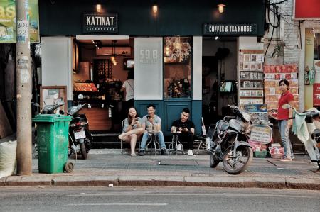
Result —
<svg viewBox="0 0 320 212"><path fill-rule="evenodd" d="M250 140L257 143L270 143L272 138L272 128L267 125L252 125Z"/></svg>

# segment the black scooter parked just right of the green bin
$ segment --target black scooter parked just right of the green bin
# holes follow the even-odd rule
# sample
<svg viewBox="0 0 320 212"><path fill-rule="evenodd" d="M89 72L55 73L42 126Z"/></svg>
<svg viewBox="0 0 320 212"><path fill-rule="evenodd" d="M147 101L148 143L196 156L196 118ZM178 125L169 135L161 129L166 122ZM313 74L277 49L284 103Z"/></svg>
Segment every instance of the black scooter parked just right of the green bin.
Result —
<svg viewBox="0 0 320 212"><path fill-rule="evenodd" d="M81 153L82 159L87 159L87 153L92 148L92 134L89 130L89 123L85 114L79 111L85 104L78 104L68 109L68 115L72 117L69 125L69 152L71 154Z"/></svg>

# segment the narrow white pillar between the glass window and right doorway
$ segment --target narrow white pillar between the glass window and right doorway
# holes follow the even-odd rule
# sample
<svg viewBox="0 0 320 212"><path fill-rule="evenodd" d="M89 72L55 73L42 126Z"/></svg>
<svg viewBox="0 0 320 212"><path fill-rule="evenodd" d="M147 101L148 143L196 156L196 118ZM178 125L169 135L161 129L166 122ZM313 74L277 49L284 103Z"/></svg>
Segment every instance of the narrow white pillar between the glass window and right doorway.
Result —
<svg viewBox="0 0 320 212"><path fill-rule="evenodd" d="M202 37L193 37L192 99L202 99Z"/></svg>

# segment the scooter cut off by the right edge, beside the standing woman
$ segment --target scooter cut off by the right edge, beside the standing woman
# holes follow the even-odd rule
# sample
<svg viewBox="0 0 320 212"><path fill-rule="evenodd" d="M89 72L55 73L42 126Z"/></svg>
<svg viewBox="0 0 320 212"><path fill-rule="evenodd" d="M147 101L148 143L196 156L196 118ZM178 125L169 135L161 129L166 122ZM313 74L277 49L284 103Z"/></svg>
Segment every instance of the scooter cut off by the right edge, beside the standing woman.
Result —
<svg viewBox="0 0 320 212"><path fill-rule="evenodd" d="M291 106L284 104L282 108L288 109ZM292 107L291 107L292 108ZM299 140L304 143L306 152L310 157L311 162L318 164L318 169L315 172L320 171L320 129L316 128L314 121L320 118L320 111L310 109L299 113L295 108L294 119L295 119L295 131Z"/></svg>

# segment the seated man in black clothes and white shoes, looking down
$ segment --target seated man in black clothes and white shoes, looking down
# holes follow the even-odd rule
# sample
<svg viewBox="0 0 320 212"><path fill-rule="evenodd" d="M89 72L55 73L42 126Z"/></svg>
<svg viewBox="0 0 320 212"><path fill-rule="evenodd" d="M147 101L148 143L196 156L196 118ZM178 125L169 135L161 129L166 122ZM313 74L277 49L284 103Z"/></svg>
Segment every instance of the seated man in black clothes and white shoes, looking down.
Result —
<svg viewBox="0 0 320 212"><path fill-rule="evenodd" d="M180 131L181 134L178 135L178 138L181 142L187 142L188 155L193 155L193 135L194 135L194 123L189 121L190 111L188 108L183 108L181 113L181 118L172 123L171 132Z"/></svg>

